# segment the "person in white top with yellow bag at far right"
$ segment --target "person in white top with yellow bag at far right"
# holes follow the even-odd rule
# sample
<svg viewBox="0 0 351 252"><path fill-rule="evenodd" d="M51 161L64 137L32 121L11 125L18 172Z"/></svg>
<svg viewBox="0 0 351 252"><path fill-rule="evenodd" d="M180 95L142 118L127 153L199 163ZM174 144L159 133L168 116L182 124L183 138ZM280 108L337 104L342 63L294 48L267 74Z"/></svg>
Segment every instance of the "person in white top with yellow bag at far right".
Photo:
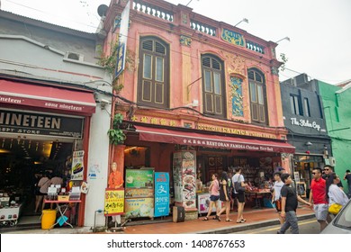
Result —
<svg viewBox="0 0 351 252"><path fill-rule="evenodd" d="M329 186L329 212L331 214L337 215L338 211L347 204L348 198L347 194L344 193L340 187L338 187L338 183L340 182L340 177L333 173L334 179L333 179L333 184L330 184Z"/></svg>

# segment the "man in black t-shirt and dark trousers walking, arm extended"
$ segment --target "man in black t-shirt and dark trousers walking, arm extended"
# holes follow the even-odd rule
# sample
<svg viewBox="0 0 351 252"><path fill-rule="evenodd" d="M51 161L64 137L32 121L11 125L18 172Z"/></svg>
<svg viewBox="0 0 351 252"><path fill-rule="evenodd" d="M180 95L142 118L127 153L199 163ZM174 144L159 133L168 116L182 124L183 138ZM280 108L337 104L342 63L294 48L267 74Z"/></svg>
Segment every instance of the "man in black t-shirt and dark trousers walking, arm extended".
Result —
<svg viewBox="0 0 351 252"><path fill-rule="evenodd" d="M284 219L284 224L281 228L276 232L277 234L284 234L285 231L291 228L291 232L293 234L299 233L299 225L296 215L296 209L298 202L305 203L307 205L311 205L309 202L300 197L300 195L296 194L296 191L293 187L290 186L292 184L292 177L289 174L283 174L282 181L284 185L281 190L282 194L282 212L281 216Z"/></svg>

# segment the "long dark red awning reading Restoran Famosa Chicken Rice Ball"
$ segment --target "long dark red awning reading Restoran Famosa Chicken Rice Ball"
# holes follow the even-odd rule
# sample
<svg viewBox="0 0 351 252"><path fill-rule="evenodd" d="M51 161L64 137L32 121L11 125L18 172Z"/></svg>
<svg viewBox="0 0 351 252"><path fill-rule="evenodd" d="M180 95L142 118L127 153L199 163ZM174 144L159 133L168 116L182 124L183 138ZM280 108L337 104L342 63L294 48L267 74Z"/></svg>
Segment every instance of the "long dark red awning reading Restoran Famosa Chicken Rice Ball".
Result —
<svg viewBox="0 0 351 252"><path fill-rule="evenodd" d="M139 125L135 125L135 128L139 132L139 139L144 141L202 146L206 148L245 149L280 153L295 152L295 148L284 141L242 139L181 130L157 129Z"/></svg>

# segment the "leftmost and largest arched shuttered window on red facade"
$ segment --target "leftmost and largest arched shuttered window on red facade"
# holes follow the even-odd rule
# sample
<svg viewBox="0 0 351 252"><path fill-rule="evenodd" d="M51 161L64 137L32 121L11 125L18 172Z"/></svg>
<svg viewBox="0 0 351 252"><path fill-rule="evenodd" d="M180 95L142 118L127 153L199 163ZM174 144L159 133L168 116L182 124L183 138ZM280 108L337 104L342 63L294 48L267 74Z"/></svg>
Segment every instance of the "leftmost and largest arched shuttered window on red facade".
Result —
<svg viewBox="0 0 351 252"><path fill-rule="evenodd" d="M156 37L140 39L138 103L169 107L169 47Z"/></svg>

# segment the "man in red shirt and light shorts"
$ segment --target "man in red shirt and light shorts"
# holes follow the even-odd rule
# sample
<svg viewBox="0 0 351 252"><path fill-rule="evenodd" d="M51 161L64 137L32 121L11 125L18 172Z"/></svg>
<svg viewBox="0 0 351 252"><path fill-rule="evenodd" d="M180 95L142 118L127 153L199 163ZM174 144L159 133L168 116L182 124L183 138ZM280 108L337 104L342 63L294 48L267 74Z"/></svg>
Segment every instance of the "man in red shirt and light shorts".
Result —
<svg viewBox="0 0 351 252"><path fill-rule="evenodd" d="M327 227L328 202L326 195L326 181L322 178L320 168L314 168L312 171L313 179L311 181L310 203L313 200L313 210L318 222L320 222L320 231ZM312 205L311 205L312 208Z"/></svg>

